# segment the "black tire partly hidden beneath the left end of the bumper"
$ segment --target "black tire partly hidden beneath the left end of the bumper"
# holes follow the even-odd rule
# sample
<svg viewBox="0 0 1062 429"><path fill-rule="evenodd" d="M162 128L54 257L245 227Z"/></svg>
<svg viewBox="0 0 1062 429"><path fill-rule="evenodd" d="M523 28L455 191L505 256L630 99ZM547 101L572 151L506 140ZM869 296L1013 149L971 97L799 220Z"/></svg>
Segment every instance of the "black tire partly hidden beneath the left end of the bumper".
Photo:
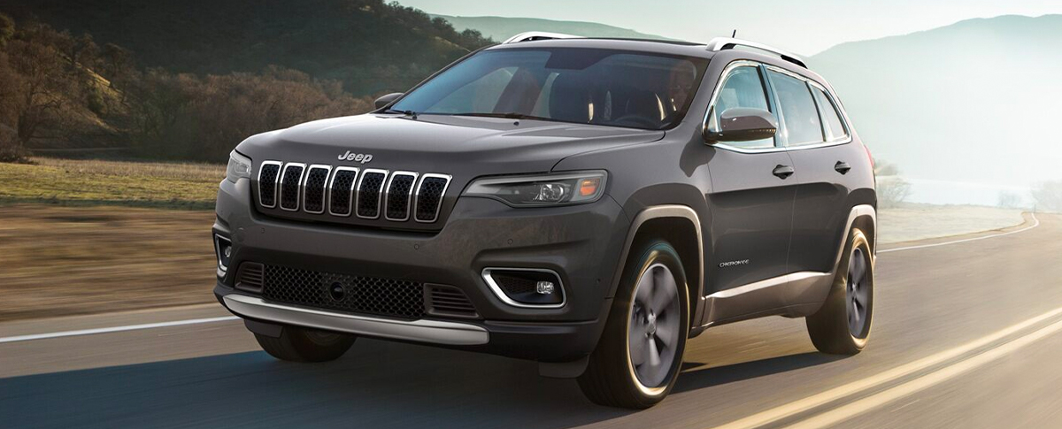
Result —
<svg viewBox="0 0 1062 429"><path fill-rule="evenodd" d="M279 338L255 333L255 340L270 356L289 362L327 362L339 359L357 337L347 333L286 325Z"/></svg>

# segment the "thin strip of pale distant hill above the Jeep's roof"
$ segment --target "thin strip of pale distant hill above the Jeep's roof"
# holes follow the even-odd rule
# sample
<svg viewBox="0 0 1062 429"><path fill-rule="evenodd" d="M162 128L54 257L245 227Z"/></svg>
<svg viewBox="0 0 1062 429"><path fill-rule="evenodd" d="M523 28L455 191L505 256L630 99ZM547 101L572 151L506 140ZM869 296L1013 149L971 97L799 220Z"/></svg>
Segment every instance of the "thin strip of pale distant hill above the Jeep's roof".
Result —
<svg viewBox="0 0 1062 429"><path fill-rule="evenodd" d="M457 30L472 29L483 33L497 41L526 31L547 31L552 33L573 34L577 36L616 37L616 38L650 38L667 39L654 34L638 33L634 30L605 25L596 22L555 21L536 18L508 18L500 16L447 16L432 15L443 18L453 24Z"/></svg>

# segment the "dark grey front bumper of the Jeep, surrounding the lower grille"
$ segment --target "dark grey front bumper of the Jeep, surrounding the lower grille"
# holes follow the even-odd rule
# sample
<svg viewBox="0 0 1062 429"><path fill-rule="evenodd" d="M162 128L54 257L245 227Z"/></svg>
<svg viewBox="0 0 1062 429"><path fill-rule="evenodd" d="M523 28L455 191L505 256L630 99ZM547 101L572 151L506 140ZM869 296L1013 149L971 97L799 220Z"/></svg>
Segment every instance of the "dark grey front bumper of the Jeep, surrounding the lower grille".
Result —
<svg viewBox="0 0 1062 429"><path fill-rule="evenodd" d="M213 231L230 238L233 254L215 293L237 315L543 361L593 351L611 308L610 286L629 226L609 198L537 209L462 198L433 234L278 220L258 213L251 201L247 181L222 182ZM448 285L465 293L480 318L407 321L268 302L234 289L236 268L244 261ZM554 271L566 303L561 308L507 304L481 276L489 267Z"/></svg>

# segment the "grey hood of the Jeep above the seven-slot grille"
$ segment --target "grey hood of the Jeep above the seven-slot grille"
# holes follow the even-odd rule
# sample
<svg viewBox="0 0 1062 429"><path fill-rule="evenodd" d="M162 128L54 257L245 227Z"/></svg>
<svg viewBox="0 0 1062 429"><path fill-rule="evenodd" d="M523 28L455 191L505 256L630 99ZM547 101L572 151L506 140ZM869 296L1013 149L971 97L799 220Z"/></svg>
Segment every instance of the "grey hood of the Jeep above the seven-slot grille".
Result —
<svg viewBox="0 0 1062 429"><path fill-rule="evenodd" d="M470 174L549 171L586 151L660 140L643 131L549 121L366 114L325 119L260 134L237 148L257 165L277 159L360 168ZM370 161L340 159L372 155Z"/></svg>

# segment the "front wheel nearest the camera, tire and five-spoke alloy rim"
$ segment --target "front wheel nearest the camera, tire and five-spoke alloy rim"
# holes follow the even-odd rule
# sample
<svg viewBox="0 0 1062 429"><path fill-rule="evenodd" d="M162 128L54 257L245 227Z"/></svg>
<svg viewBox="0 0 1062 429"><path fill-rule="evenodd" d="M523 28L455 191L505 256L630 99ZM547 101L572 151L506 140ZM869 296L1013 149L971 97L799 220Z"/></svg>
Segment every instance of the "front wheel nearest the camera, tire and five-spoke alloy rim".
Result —
<svg viewBox="0 0 1062 429"><path fill-rule="evenodd" d="M663 241L636 252L579 377L583 394L602 406L645 409L663 400L674 387L689 336L689 294L679 254Z"/></svg>

